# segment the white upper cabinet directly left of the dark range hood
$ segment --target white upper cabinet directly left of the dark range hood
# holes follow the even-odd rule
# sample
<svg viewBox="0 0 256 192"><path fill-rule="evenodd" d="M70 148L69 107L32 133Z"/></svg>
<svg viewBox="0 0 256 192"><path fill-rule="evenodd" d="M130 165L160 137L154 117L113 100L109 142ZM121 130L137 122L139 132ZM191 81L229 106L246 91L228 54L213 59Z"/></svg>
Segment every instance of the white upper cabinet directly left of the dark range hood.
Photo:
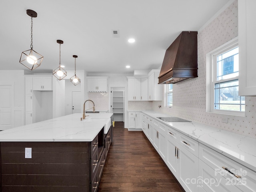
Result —
<svg viewBox="0 0 256 192"><path fill-rule="evenodd" d="M163 85L158 84L158 76L160 70L152 70L148 76L148 100L160 101L162 100Z"/></svg>

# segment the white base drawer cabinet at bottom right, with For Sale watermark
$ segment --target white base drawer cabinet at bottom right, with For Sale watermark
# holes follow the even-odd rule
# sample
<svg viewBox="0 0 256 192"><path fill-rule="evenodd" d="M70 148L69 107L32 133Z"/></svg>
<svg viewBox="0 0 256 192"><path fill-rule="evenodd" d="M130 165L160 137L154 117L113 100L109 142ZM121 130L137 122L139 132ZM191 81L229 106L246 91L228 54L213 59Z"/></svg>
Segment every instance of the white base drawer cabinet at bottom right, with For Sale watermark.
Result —
<svg viewBox="0 0 256 192"><path fill-rule="evenodd" d="M256 173L249 168L203 144L199 144L199 159L200 184L206 192L256 191Z"/></svg>

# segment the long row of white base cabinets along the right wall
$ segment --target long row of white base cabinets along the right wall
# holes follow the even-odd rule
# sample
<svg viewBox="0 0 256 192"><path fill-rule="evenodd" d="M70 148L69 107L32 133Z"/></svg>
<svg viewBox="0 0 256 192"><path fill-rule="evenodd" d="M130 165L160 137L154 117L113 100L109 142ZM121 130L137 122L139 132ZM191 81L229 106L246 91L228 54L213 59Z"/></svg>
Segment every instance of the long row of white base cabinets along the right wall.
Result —
<svg viewBox="0 0 256 192"><path fill-rule="evenodd" d="M256 192L256 172L142 112L142 131L186 192Z"/></svg>

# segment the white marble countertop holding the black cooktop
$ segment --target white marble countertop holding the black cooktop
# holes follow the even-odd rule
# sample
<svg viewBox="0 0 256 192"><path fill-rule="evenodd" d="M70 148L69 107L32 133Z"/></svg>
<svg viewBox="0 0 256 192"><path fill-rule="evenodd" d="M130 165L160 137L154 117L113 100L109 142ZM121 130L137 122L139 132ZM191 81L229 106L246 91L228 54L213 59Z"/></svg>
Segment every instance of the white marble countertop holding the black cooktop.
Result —
<svg viewBox="0 0 256 192"><path fill-rule="evenodd" d="M256 171L256 139L197 122L164 122L156 117L170 117L170 115L154 111L142 112Z"/></svg>

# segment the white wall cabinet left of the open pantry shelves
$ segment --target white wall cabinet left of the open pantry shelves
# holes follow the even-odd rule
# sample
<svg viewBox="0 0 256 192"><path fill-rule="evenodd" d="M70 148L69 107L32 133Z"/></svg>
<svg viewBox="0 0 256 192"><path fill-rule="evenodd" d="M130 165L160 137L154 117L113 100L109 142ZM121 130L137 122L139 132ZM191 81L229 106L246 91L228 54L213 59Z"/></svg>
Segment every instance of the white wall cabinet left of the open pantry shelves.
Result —
<svg viewBox="0 0 256 192"><path fill-rule="evenodd" d="M108 77L87 77L87 92L108 92Z"/></svg>

